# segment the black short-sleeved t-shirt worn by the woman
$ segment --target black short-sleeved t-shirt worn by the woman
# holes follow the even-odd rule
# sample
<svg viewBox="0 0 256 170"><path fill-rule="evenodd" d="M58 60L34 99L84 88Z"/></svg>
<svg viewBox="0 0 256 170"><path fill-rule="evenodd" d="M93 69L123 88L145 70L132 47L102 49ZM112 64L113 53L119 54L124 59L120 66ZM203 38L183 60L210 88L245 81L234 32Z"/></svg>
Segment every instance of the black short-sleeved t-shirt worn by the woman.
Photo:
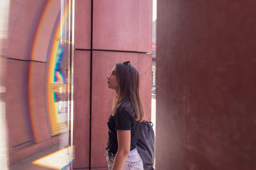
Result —
<svg viewBox="0 0 256 170"><path fill-rule="evenodd" d="M115 114L108 118L108 149L112 153L116 153L118 149L116 130L131 130L131 148L136 148L136 143L139 138L140 124L135 120L135 112L131 101L125 99Z"/></svg>

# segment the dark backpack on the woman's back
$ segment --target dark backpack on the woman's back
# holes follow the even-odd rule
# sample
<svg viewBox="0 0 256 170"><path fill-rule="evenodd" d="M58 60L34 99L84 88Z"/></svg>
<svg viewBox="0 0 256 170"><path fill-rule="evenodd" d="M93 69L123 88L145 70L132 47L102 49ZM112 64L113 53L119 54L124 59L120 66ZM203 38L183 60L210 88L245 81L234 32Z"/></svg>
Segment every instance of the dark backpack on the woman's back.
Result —
<svg viewBox="0 0 256 170"><path fill-rule="evenodd" d="M145 170L154 170L155 134L152 128L153 125L152 122L148 122L147 120L140 122L140 137L136 144L136 148L143 160L143 167Z"/></svg>

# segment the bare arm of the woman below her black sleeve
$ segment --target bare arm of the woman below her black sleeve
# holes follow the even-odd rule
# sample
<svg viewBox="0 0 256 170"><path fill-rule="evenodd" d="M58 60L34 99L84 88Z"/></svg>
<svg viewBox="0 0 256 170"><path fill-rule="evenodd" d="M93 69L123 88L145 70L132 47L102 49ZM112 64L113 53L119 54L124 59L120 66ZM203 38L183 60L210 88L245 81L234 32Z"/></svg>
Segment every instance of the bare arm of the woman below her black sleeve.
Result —
<svg viewBox="0 0 256 170"><path fill-rule="evenodd" d="M131 131L117 130L118 150L113 164L113 170L121 170L124 167L131 147Z"/></svg>

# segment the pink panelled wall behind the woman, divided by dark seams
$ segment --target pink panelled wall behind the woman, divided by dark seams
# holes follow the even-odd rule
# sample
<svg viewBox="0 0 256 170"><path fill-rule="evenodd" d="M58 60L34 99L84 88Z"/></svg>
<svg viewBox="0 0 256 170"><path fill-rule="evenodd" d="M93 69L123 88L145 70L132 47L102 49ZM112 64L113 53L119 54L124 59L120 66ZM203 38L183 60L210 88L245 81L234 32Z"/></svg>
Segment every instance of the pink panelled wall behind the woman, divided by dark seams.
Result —
<svg viewBox="0 0 256 170"><path fill-rule="evenodd" d="M107 89L106 76L109 75L116 62L130 60L131 64L138 68L141 78L141 98L146 118L150 119L152 55L138 52L151 52L152 49L152 2L96 0L93 1L93 21L91 14L84 11L84 8L90 11L91 8L88 8L90 3L90 1L76 1L74 45L77 50L75 50L74 63L79 62L81 65L88 66L89 61L81 60L80 57L78 59L77 52L78 49L81 53L88 50L92 52L92 65L89 64L90 71L92 71L92 77L90 77L92 79L92 101L86 98L78 100L74 96L74 101L77 103L74 106L91 103L92 110L90 113L88 110L78 113L77 110L74 113L77 115L74 121L76 122L77 118L82 118L88 122L88 119L91 118L91 148L88 147L87 140L83 145L79 145L80 153L76 152L73 167L88 168L87 163L83 163L84 160L80 159L79 155L82 154L81 152L88 153L91 150L91 168L108 169L105 148L108 141L107 122L111 112L113 91ZM91 21L93 22L92 30ZM89 34L88 31L90 31ZM74 67L74 77L76 77L77 70L79 68ZM88 73L86 72L86 74L79 76L79 79L89 81ZM79 91L76 86L74 83L74 88ZM76 108L74 109L76 110ZM90 117L88 117L88 113L91 115ZM86 129L88 127L81 127L79 124L74 124L74 127L81 129L74 129L74 141L83 140L84 137L78 136L77 133L83 129L88 131Z"/></svg>

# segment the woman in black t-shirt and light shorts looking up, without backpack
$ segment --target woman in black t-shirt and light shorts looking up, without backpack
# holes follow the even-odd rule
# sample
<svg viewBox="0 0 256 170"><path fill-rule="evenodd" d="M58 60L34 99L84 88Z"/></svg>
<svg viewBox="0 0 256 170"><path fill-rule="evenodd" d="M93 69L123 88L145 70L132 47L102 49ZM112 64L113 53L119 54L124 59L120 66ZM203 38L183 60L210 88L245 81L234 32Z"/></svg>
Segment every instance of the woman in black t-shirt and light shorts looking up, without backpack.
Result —
<svg viewBox="0 0 256 170"><path fill-rule="evenodd" d="M108 169L143 170L143 162L136 149L139 123L144 117L139 73L127 61L117 63L107 79L108 89L115 90L112 113L108 119Z"/></svg>

